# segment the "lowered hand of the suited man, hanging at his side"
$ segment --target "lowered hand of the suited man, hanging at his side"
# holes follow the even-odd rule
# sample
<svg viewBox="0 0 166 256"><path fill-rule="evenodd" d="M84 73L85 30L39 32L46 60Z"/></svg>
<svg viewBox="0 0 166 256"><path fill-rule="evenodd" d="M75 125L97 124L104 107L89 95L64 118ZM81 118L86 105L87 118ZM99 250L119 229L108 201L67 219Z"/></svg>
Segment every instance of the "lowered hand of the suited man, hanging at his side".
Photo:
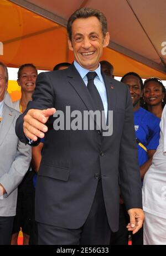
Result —
<svg viewBox="0 0 166 256"><path fill-rule="evenodd" d="M143 210L139 208L132 208L128 210L128 214L130 222L126 228L128 231L132 231L133 234L135 234L140 228L142 228L144 220Z"/></svg>

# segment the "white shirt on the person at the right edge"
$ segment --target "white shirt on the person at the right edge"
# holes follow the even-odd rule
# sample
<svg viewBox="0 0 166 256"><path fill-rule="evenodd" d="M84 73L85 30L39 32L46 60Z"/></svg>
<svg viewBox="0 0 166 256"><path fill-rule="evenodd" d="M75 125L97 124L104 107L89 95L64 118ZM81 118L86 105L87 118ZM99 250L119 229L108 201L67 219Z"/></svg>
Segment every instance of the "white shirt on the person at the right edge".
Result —
<svg viewBox="0 0 166 256"><path fill-rule="evenodd" d="M166 219L166 106L160 129L159 145L143 180L143 210Z"/></svg>

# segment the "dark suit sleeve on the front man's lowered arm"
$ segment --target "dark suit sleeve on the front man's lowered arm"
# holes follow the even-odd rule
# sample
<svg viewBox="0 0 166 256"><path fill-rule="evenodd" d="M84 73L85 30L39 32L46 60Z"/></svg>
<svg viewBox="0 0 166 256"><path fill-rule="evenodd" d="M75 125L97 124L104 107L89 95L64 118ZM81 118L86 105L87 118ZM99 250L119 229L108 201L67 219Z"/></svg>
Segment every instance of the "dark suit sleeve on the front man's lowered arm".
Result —
<svg viewBox="0 0 166 256"><path fill-rule="evenodd" d="M142 185L138 165L133 104L127 89L125 122L120 145L119 176L122 197L127 209L142 208Z"/></svg>

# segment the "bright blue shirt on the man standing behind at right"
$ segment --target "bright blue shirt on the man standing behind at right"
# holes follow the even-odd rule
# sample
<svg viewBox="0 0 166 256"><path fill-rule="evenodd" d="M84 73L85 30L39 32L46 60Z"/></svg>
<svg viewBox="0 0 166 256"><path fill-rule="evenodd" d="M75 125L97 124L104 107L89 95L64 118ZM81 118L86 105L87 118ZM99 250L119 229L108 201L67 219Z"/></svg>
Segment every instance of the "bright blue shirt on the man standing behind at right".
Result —
<svg viewBox="0 0 166 256"><path fill-rule="evenodd" d="M134 112L134 128L137 139L147 148L147 150L156 150L160 137L160 118L154 116L146 109L139 108ZM147 152L138 146L138 163L139 166L148 160Z"/></svg>

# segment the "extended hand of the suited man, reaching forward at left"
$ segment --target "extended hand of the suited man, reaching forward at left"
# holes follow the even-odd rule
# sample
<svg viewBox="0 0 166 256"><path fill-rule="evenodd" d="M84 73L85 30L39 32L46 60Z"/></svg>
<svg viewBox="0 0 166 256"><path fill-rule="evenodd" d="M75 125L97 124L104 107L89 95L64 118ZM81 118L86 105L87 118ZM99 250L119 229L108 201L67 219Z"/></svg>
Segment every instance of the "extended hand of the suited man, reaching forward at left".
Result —
<svg viewBox="0 0 166 256"><path fill-rule="evenodd" d="M27 114L24 116L23 129L24 134L27 138L37 141L39 138L44 138L44 133L47 132L48 128L44 125L49 116L55 113L55 108L48 108L44 110L29 109Z"/></svg>

